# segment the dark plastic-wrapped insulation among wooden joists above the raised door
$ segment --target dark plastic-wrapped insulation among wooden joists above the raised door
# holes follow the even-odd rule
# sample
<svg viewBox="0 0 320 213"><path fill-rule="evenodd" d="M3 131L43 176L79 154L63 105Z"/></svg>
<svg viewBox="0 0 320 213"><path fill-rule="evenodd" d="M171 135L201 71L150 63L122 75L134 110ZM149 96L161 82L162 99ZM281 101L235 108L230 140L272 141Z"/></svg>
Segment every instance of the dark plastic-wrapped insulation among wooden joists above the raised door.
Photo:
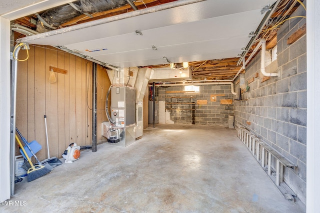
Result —
<svg viewBox="0 0 320 213"><path fill-rule="evenodd" d="M53 27L69 21L84 12L100 12L127 4L126 0L77 0L73 4L81 11L77 11L69 4L64 4L44 11L42 19ZM45 26L41 20L37 21L36 31L47 32L52 29Z"/></svg>

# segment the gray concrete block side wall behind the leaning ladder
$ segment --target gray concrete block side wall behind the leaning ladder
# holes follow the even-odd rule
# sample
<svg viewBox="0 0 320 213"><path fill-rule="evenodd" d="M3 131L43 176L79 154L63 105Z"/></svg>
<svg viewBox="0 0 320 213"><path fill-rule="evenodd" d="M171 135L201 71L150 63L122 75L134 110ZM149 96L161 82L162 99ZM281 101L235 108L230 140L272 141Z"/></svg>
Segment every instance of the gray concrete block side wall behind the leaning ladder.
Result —
<svg viewBox="0 0 320 213"><path fill-rule="evenodd" d="M305 1L304 1L305 3ZM305 15L299 6L291 15ZM297 164L285 168L284 181L305 204L306 199L306 35L293 44L287 38L305 23L305 18L284 22L277 32L278 77L261 82L260 53L246 67L245 82L259 77L242 94L246 101L234 102L235 125L246 126L287 159ZM236 85L236 91L239 85ZM247 125L250 121L251 125Z"/></svg>

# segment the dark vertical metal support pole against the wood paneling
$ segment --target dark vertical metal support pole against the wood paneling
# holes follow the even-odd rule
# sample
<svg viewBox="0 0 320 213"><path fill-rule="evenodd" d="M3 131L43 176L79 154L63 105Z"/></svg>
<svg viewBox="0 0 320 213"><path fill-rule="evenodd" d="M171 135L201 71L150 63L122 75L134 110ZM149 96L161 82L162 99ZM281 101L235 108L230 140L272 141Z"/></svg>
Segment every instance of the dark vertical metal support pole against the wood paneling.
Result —
<svg viewBox="0 0 320 213"><path fill-rule="evenodd" d="M96 152L96 63L92 66L92 152Z"/></svg>

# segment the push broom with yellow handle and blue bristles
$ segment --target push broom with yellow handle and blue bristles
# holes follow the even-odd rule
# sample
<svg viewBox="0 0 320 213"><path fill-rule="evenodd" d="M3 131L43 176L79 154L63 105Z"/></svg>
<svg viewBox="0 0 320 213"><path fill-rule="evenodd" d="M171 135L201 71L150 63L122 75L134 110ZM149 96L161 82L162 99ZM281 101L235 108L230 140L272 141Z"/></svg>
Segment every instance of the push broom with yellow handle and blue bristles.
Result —
<svg viewBox="0 0 320 213"><path fill-rule="evenodd" d="M29 162L29 164L30 164L30 166L31 166L31 168L29 168L28 171L26 172L26 174L27 174L26 177L27 177L28 182L33 181L33 180L35 180L35 179L37 179L37 178L42 177L43 175L48 174L48 173L50 172L49 169L46 169L46 168L45 168L44 166L42 166L42 165L41 165L41 166L40 166L40 165L35 165L35 166L34 166L34 165L32 164L29 156L26 154L26 152L25 152L25 150L24 150L24 148L23 148L23 146L22 146L22 144L21 144L21 142L20 142L20 140L19 140L19 138L18 138L18 136L17 136L16 134L15 134L15 139L16 139L16 141L18 142L18 145L19 145L20 149L21 149L22 152L24 153L27 161Z"/></svg>

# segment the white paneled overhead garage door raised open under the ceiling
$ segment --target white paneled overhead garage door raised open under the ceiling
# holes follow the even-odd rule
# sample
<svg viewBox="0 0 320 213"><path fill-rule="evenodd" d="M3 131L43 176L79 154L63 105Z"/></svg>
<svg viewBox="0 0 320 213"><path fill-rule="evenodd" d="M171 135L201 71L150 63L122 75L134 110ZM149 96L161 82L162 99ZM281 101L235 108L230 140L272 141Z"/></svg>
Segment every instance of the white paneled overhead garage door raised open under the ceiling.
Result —
<svg viewBox="0 0 320 213"><path fill-rule="evenodd" d="M64 46L114 66L236 57L274 0L175 1L91 23L29 36L20 41ZM89 24L92 26L89 26ZM136 34L140 30L142 35ZM157 50L152 50L154 45Z"/></svg>

